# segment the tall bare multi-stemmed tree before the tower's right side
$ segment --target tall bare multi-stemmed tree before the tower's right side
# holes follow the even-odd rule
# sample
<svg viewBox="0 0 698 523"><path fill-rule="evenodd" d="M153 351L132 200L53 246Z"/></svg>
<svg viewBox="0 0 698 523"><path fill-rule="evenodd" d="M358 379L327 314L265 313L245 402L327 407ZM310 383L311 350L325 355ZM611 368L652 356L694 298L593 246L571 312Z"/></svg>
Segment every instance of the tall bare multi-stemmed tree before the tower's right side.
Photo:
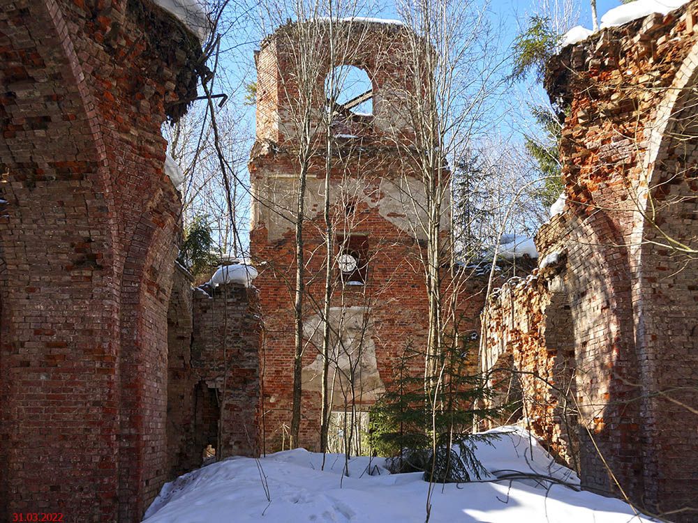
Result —
<svg viewBox="0 0 698 523"><path fill-rule="evenodd" d="M405 116L410 126L405 148L405 176L417 179L409 190L415 213L415 236L425 238L422 267L429 304L428 339L424 361L424 389L430 398L433 423L441 408L436 398L443 386L443 352L446 333L454 326L459 284L446 290L444 267L452 248L447 234L450 212L449 163L455 164L468 144L482 136L490 123L486 117L503 85L503 56L496 48L496 33L485 10L474 2L404 0L399 13L415 32L406 61L410 85L405 93ZM409 186L406 183L406 186ZM445 219L446 218L446 219ZM447 293L451 298L447 298ZM432 427L436 434L436 426ZM432 439L431 474L436 467L436 436ZM426 520L431 513L430 482Z"/></svg>

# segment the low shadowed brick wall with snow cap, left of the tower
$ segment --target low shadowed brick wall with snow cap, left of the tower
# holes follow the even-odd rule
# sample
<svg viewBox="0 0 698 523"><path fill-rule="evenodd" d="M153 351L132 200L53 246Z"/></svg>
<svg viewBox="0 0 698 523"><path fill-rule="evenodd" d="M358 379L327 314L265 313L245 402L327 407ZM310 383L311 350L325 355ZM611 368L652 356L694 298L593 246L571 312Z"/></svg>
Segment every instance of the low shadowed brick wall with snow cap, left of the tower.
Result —
<svg viewBox="0 0 698 523"><path fill-rule="evenodd" d="M175 267L168 310L170 479L200 467L207 446L218 457L260 452L257 292L235 284L192 289L192 281Z"/></svg>

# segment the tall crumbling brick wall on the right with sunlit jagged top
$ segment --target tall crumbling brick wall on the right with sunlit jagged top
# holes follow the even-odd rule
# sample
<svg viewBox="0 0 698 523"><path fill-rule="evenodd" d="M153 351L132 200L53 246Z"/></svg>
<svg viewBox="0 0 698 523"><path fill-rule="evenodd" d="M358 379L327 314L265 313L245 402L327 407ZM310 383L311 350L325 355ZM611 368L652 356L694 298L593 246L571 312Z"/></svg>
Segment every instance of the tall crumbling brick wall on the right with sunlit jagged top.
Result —
<svg viewBox="0 0 698 523"><path fill-rule="evenodd" d="M698 495L697 443L688 437L698 421L685 408L698 404L698 266L688 255L698 236L697 8L692 1L604 29L562 50L547 75L551 100L568 112L560 144L567 204L537 245L541 259L566 254L552 281L572 321L581 478L618 492L603 457L620 488L658 513ZM540 306L501 298L488 306L487 352L518 338L521 326L540 333L555 321L541 277L514 291L516 303ZM514 364L548 366L537 342L517 341Z"/></svg>

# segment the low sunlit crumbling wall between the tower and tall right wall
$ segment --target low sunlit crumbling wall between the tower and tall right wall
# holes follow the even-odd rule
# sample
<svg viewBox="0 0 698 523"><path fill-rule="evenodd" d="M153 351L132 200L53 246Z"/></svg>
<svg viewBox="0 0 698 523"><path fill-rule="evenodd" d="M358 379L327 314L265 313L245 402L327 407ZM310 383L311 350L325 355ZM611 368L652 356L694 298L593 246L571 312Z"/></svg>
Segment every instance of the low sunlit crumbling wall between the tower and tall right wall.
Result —
<svg viewBox="0 0 698 523"><path fill-rule="evenodd" d="M553 455L579 470L572 317L559 286L558 271L549 267L493 292L483 314L482 367L495 391L512 388L516 395L496 398L516 402L516 417L507 422L524 418Z"/></svg>

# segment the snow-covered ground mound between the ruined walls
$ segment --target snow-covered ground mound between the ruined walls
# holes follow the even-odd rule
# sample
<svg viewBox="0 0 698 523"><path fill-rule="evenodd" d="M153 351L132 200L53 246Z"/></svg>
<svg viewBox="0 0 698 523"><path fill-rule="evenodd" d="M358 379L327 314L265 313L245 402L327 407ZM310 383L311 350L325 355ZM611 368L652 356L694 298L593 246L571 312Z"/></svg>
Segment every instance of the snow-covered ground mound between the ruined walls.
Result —
<svg viewBox="0 0 698 523"><path fill-rule="evenodd" d="M498 480L538 473L577 485L574 472L551 457L518 427L496 431L500 439L478 444L489 471L483 483L437 485L431 522L604 523L649 522L623 501L545 480ZM230 458L181 476L163 487L146 513L147 523L218 522L423 522L428 483L422 473L390 474L382 458L355 457L349 476L343 455L288 450L253 460ZM266 478L262 483L261 475ZM489 480L488 480L489 479ZM269 499L265 494L269 493Z"/></svg>

